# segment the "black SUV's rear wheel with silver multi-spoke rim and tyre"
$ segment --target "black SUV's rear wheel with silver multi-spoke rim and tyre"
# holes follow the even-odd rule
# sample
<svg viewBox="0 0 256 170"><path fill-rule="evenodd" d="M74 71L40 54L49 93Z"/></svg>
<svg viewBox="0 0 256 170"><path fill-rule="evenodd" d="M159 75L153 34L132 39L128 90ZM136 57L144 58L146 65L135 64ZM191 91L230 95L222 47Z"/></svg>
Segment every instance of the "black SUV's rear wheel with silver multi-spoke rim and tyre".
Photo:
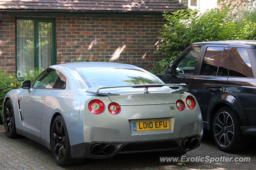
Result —
<svg viewBox="0 0 256 170"><path fill-rule="evenodd" d="M215 143L224 152L242 151L249 144L249 138L242 135L236 115L229 107L221 107L216 112L212 133Z"/></svg>

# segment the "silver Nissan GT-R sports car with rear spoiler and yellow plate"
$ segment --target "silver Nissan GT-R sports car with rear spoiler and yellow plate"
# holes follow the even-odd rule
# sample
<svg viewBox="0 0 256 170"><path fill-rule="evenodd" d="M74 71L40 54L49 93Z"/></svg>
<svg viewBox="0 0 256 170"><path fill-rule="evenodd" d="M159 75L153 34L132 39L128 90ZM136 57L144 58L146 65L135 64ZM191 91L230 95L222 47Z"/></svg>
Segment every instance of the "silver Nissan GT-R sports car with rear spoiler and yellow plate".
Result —
<svg viewBox="0 0 256 170"><path fill-rule="evenodd" d="M129 64L53 65L6 94L6 135L48 147L60 166L116 154L184 154L199 147L203 131L187 89Z"/></svg>

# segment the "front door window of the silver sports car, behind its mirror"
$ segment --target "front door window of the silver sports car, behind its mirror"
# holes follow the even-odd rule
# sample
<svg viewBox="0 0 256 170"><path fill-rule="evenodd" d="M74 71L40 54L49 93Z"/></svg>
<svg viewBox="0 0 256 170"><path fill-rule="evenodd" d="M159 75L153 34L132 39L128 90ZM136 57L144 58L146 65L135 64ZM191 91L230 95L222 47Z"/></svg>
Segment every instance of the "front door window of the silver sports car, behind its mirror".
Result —
<svg viewBox="0 0 256 170"><path fill-rule="evenodd" d="M49 68L44 70L42 74L35 80L34 88L52 88L58 74L56 70Z"/></svg>

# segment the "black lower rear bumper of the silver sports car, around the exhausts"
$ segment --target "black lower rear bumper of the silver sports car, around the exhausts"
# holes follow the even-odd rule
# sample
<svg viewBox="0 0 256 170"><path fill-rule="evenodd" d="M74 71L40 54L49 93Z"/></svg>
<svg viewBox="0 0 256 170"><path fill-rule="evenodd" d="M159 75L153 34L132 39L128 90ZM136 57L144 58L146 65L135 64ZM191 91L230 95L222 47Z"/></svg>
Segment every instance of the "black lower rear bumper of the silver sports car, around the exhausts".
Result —
<svg viewBox="0 0 256 170"><path fill-rule="evenodd" d="M186 139L198 139L196 146L190 146L188 149L183 147L183 142ZM182 137L176 139L154 140L154 141L132 141L132 142L92 142L92 143L80 143L70 146L72 158L111 158L116 154L131 154L140 152L187 152L200 146L202 135L193 135L189 137ZM102 147L106 145L114 146L114 150L111 154L92 153L92 146L100 144Z"/></svg>

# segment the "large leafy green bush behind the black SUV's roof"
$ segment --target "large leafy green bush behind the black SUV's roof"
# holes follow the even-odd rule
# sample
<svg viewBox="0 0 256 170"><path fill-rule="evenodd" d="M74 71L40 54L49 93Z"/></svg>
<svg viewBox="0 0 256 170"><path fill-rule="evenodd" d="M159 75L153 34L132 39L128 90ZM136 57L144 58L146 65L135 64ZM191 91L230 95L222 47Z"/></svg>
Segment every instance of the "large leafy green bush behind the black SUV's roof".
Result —
<svg viewBox="0 0 256 170"><path fill-rule="evenodd" d="M232 15L232 17L231 17ZM186 47L195 42L238 40L256 38L255 14L246 15L239 22L229 8L208 10L201 14L187 10L164 12L167 23L163 25L159 38L163 43L155 53L166 55L166 59L155 63L150 70L153 74L164 72ZM236 16L235 16L236 17Z"/></svg>

